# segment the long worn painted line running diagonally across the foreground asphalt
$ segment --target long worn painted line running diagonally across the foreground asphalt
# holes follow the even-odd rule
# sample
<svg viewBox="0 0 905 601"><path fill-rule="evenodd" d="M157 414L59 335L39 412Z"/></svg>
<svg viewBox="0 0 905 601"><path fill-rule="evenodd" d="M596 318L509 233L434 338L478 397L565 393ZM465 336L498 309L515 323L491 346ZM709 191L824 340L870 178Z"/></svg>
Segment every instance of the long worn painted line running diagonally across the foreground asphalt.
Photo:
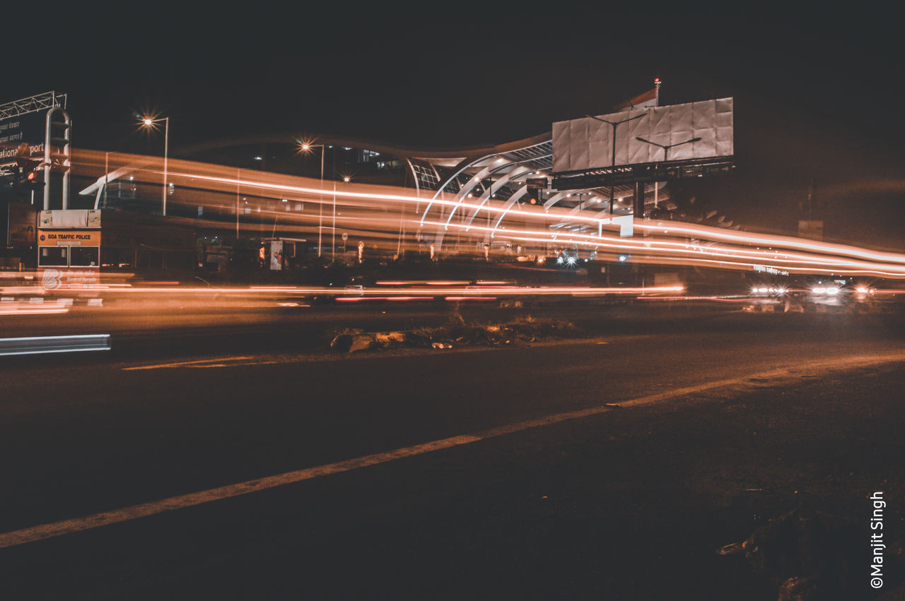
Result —
<svg viewBox="0 0 905 601"><path fill-rule="evenodd" d="M812 362L807 365L795 365L787 368L780 368L771 371L761 371L751 373L738 378L730 378L727 380L714 380L698 384L696 386L687 386L681 389L667 390L649 394L637 399L620 401L620 407L638 407L641 405L649 405L658 401L683 397L690 394L696 394L705 390L714 390L720 388L729 388L738 386L739 384L755 383L752 380L773 380L765 385L776 384L780 378L788 376L799 376L809 371L823 371L825 369L853 369L868 367L871 365L902 362L905 361L905 352L898 352L887 355L866 355L855 357L843 357L841 359L827 360L824 362ZM160 501L141 503L132 505L122 509L110 512L100 512L94 515L88 515L81 518L71 520L54 521L48 524L32 526L22 530L5 532L0 534L0 549L7 547L15 547L24 545L36 540L51 539L53 537L62 536L63 534L71 534L73 532L93 530L100 526L107 526L122 521L136 520L138 518L156 515L157 513L171 512L194 505L200 505L205 502L219 501L230 497L239 496L247 493L256 493L282 486L283 484L293 484L304 480L319 478L320 476L329 474L339 474L348 472L359 467L367 467L369 465L383 464L395 459L403 457L411 457L414 455L423 455L432 451L439 451L444 448L452 448L453 446L470 445L479 440L487 440L488 438L500 437L505 434L521 432L534 427L550 426L568 419L587 418L607 411L619 410L614 408L612 404L599 405L596 407L578 409L576 411L567 411L565 413L556 413L543 418L530 419L508 426L493 427L487 430L481 430L474 434L467 434L459 437L443 438L423 445L405 446L397 448L386 453L376 453L374 455L365 455L354 459L347 459L333 464L319 465L317 467L309 467L295 472L287 472L285 474L271 475L258 480L249 480L238 484L229 484L219 488L213 488L198 493L182 494Z"/></svg>

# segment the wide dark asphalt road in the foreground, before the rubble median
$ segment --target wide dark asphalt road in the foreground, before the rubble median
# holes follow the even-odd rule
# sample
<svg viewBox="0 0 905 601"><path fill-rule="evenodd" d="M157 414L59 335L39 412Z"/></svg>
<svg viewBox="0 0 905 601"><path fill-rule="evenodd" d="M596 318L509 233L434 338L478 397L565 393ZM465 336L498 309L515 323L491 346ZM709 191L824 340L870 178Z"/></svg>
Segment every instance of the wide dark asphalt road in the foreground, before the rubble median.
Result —
<svg viewBox="0 0 905 601"><path fill-rule="evenodd" d="M899 317L654 317L515 348L4 362L0 596L776 598L715 549L798 507L866 529L875 490L901 532Z"/></svg>

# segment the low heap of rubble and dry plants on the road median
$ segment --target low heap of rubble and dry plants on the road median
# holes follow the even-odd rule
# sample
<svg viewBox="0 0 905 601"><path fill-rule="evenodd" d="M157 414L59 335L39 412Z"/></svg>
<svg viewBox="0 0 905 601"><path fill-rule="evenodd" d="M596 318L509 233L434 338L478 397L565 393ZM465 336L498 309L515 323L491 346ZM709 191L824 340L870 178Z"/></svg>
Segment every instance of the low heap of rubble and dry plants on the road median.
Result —
<svg viewBox="0 0 905 601"><path fill-rule="evenodd" d="M386 348L451 349L458 346L506 346L533 343L552 338L575 338L583 335L566 321L535 318L530 315L491 324L469 324L461 315L434 328L418 328L409 332L373 332L342 330L331 333L330 348L341 352Z"/></svg>

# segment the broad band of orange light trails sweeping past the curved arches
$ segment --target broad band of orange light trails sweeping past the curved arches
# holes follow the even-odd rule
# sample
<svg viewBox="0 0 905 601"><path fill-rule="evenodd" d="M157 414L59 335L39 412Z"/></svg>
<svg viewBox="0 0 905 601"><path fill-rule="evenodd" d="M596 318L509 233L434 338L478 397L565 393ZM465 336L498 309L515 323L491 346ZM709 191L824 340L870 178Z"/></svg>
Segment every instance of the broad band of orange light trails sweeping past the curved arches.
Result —
<svg viewBox="0 0 905 601"><path fill-rule="evenodd" d="M144 156L118 155L139 166L137 174L155 180L162 173L157 159ZM100 168L106 162L105 153L80 151L81 164ZM646 234L637 238L614 238L616 230L609 216L601 211L577 211L552 206L519 207L492 199L449 200L443 194L436 198L420 197L405 188L393 188L362 183L320 182L310 178L285 174L268 174L237 170L222 165L171 161L168 177L185 191L186 204L209 207L212 211L239 209L238 191L252 197L256 217L272 219L272 230L280 223L281 230L300 236L321 235L335 237L342 230L349 238L367 240L368 253L398 255L403 249L424 252L432 239L440 240L443 232L443 252L449 247L460 254L480 256L487 244L496 241L524 246L523 254L548 256L562 251L603 251L631 253L633 263L656 265L686 265L724 269L751 270L756 266L788 271L795 274L838 274L905 278L905 254L797 239L787 236L729 231L720 228L683 223L680 221L635 220L634 228ZM151 183L148 182L148 185ZM157 183L159 185L159 183ZM318 211L279 211L281 199L288 202L310 203ZM177 203L177 200L171 201ZM425 219L430 205L436 219ZM327 207L329 226L323 226L320 209ZM472 215L467 223L452 220L452 211ZM487 215L487 225L473 219L479 211ZM491 226L490 217L498 216ZM505 219L504 219L505 218ZM482 219L482 218L481 218ZM464 220L463 220L464 221ZM215 221L222 227L232 227L229 221ZM320 225L319 225L320 223ZM567 228L562 226L567 225ZM243 225L249 231L263 232L266 223ZM576 230L569 231L568 229ZM589 229L593 233L582 230ZM415 241L414 234L419 239ZM449 237L454 233L455 240ZM716 243L715 246L705 244ZM469 248L471 247L471 248ZM486 247L499 257L498 249Z"/></svg>

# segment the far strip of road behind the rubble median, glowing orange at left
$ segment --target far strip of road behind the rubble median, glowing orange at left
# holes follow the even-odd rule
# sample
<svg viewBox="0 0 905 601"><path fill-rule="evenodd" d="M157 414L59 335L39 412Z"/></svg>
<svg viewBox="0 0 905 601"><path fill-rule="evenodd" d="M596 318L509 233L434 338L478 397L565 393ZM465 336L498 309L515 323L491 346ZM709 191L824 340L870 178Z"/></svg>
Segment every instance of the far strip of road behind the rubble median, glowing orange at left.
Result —
<svg viewBox="0 0 905 601"><path fill-rule="evenodd" d="M470 323L505 322L527 313L572 322L588 333L650 333L696 330L701 322L738 312L737 305L625 305L595 299L544 301L533 309L501 306L499 301L320 305L310 299L287 297L283 300L293 306L280 306L279 300L188 297L74 305L62 314L12 313L0 315L0 338L110 334L109 354L120 359L224 351L317 351L340 330L386 332L436 327L453 313Z"/></svg>

